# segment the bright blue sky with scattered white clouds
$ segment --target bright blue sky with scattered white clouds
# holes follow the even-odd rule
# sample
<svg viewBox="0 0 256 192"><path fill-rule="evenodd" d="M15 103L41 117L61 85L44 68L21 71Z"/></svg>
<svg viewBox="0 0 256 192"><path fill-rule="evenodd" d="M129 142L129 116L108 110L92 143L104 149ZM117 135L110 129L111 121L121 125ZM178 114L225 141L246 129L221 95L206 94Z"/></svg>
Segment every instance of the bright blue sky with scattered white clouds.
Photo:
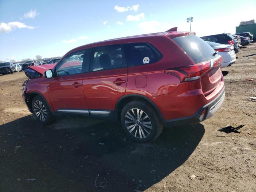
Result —
<svg viewBox="0 0 256 192"><path fill-rule="evenodd" d="M63 56L78 46L172 27L198 36L235 33L256 19L246 0L0 0L0 60Z"/></svg>

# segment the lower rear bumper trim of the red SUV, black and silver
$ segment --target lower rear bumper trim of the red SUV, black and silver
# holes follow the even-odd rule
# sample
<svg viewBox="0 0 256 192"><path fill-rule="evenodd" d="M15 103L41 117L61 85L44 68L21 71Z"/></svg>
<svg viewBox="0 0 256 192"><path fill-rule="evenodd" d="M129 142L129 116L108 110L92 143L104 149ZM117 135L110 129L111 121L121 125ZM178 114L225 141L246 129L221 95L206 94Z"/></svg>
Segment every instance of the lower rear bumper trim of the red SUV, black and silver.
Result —
<svg viewBox="0 0 256 192"><path fill-rule="evenodd" d="M194 115L184 117L184 118L178 118L178 119L172 119L164 121L164 126L181 126L186 124L196 124L200 123L210 117L212 117L217 110L220 108L222 103L225 99L225 88L222 89L220 94L211 102L204 105L202 108L200 108ZM204 112L204 114L202 114Z"/></svg>

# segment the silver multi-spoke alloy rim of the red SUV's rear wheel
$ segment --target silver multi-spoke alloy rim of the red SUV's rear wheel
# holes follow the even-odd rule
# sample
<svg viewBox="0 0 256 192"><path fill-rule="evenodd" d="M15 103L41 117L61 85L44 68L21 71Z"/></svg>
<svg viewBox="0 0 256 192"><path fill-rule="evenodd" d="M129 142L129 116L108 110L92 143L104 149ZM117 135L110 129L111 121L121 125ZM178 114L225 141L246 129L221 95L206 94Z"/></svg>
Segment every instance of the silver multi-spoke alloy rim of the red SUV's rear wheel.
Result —
<svg viewBox="0 0 256 192"><path fill-rule="evenodd" d="M130 134L140 139L148 137L152 130L150 118L138 108L133 108L126 112L125 125Z"/></svg>

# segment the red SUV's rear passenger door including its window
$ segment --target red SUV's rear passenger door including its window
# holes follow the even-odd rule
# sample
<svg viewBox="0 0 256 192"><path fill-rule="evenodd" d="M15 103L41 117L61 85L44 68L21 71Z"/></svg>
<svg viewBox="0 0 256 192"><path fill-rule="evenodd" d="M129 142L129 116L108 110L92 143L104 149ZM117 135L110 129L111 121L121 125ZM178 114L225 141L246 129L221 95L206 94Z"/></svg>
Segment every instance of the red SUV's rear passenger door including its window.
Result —
<svg viewBox="0 0 256 192"><path fill-rule="evenodd" d="M127 64L123 44L92 48L90 69L83 88L90 114L108 114L125 94Z"/></svg>

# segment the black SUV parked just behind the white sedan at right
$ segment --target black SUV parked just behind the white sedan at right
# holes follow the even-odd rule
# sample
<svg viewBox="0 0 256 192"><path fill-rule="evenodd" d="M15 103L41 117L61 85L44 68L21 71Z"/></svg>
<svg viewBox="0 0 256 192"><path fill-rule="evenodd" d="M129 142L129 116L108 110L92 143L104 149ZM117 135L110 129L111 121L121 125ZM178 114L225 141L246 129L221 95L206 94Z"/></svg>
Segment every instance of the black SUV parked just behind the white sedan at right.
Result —
<svg viewBox="0 0 256 192"><path fill-rule="evenodd" d="M222 33L222 34L216 34L216 35L209 35L201 37L204 41L210 41L220 44L231 44L234 45L234 51L236 53L239 52L239 43L238 40L232 36L230 33Z"/></svg>

